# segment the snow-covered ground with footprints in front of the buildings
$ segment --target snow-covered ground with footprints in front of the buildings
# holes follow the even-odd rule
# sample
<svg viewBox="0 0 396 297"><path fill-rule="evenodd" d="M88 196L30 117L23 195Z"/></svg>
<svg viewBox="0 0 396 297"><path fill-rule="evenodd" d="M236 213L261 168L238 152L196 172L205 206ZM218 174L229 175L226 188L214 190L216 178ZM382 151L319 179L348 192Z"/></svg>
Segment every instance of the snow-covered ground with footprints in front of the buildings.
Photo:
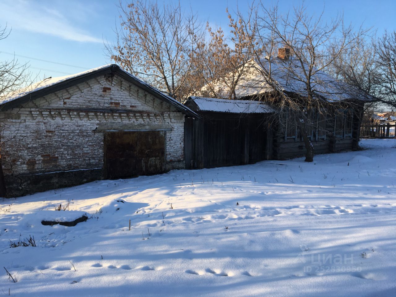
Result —
<svg viewBox="0 0 396 297"><path fill-rule="evenodd" d="M396 141L361 145L2 200L0 296L395 296Z"/></svg>

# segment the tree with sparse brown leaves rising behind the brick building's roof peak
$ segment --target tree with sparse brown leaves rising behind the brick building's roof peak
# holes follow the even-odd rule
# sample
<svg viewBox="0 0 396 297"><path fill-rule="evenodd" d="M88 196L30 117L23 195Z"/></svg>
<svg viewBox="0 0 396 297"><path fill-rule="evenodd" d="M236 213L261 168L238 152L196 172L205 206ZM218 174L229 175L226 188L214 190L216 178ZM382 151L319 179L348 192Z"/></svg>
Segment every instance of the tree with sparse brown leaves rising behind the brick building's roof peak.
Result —
<svg viewBox="0 0 396 297"><path fill-rule="evenodd" d="M196 15L184 13L179 4L159 7L156 2L120 3L117 42L105 45L108 56L122 68L175 99L186 92L194 71L192 55L203 30ZM188 90L187 90L188 91Z"/></svg>

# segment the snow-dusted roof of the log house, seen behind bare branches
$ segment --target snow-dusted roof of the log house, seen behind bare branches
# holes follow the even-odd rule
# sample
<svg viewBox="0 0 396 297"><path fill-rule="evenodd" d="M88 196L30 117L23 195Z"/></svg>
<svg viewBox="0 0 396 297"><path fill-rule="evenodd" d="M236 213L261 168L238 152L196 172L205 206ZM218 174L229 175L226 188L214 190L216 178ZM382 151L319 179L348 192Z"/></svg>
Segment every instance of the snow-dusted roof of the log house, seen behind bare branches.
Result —
<svg viewBox="0 0 396 297"><path fill-rule="evenodd" d="M247 63L250 64L247 65L249 70L235 88L236 97L241 98L272 91L273 88L266 82L268 69L270 69L272 81L278 90L307 96L303 67L293 57L287 60L278 57L271 57L271 59L266 57L259 62L251 60ZM307 69L307 67L304 68ZM264 75L263 72L266 74ZM348 86L345 82L337 80L323 71L318 71L312 76L312 86L317 96L326 98L328 101L370 100L370 96L362 94L356 88ZM219 93L222 91L228 93L227 86L221 84L221 82L217 82L215 88ZM207 89L208 87L204 86L202 90L206 91Z"/></svg>

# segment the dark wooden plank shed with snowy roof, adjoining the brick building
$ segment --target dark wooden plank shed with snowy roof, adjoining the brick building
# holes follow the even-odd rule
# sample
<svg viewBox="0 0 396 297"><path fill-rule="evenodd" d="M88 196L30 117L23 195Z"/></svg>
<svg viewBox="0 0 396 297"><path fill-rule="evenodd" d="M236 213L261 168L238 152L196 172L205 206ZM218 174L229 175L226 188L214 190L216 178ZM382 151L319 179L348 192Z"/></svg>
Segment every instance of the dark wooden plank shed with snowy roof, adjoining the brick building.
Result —
<svg viewBox="0 0 396 297"><path fill-rule="evenodd" d="M185 105L201 116L186 121L186 168L271 159L272 130L267 117L274 112L272 108L257 101L203 97L190 97Z"/></svg>

